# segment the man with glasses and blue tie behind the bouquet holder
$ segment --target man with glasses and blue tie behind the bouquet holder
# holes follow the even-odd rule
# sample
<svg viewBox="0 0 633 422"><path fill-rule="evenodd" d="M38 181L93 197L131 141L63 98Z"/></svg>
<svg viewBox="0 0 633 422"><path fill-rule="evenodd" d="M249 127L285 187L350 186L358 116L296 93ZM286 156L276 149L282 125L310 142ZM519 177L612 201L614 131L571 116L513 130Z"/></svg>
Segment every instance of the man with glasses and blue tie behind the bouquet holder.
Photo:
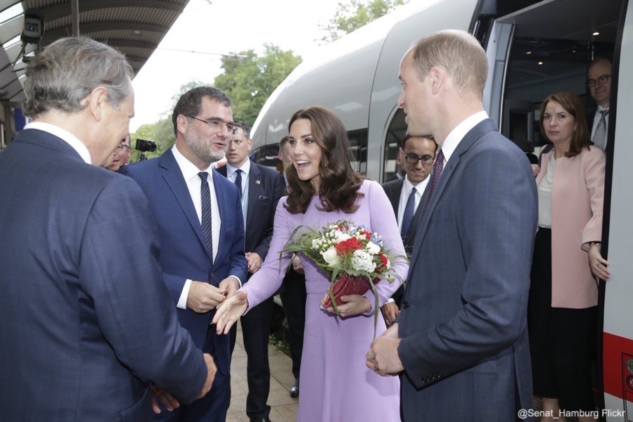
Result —
<svg viewBox="0 0 633 422"><path fill-rule="evenodd" d="M433 168L437 143L424 136L404 134L398 151L398 161L404 167L404 179L395 179L383 184L398 222L407 256L411 256L416 229L422 214L421 199L428 184L428 175ZM390 326L400 313L400 302L404 285L400 286L389 302L381 307L385 323Z"/></svg>

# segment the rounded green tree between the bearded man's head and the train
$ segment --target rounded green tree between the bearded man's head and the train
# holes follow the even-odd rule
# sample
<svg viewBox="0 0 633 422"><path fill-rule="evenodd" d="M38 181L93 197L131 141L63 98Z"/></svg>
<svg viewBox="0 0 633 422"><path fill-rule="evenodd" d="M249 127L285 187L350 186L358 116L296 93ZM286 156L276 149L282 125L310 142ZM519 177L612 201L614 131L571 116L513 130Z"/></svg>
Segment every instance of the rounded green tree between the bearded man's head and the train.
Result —
<svg viewBox="0 0 633 422"><path fill-rule="evenodd" d="M224 73L214 82L231 97L233 117L251 127L270 94L301 63L293 51L272 44L264 44L264 48L263 56L248 50L222 58Z"/></svg>

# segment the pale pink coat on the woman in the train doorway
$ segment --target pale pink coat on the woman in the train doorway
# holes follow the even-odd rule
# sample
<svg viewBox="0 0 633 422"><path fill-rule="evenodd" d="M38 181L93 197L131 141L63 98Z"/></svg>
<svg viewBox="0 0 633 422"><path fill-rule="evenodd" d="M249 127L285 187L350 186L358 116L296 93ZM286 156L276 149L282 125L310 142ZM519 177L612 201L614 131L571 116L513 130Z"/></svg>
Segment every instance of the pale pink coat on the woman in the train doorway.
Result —
<svg viewBox="0 0 633 422"><path fill-rule="evenodd" d="M543 154L536 182L554 151ZM602 238L605 156L592 146L572 158L556 159L551 193L551 306L582 309L598 305L589 268L589 242Z"/></svg>

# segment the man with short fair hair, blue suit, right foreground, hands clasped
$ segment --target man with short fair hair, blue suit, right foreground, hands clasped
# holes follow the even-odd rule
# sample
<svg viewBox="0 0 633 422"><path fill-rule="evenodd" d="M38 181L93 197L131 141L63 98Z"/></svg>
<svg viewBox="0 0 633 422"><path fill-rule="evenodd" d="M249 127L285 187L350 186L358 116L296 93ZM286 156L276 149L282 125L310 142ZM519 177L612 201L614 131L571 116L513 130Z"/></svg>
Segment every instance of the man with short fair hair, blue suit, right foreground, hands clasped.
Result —
<svg viewBox="0 0 633 422"><path fill-rule="evenodd" d="M525 154L482 106L485 51L437 32L400 63L399 107L437 152L402 311L367 364L403 372L405 421L513 421L532 409L527 304L537 192ZM528 418L530 418L528 416Z"/></svg>

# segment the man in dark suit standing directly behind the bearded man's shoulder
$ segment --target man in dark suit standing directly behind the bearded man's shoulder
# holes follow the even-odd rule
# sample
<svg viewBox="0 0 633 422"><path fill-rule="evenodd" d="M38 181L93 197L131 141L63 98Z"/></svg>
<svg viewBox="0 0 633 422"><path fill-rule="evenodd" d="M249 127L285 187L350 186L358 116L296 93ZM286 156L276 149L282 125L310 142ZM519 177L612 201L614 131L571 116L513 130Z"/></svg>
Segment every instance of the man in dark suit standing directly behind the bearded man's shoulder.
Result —
<svg viewBox="0 0 633 422"><path fill-rule="evenodd" d="M283 195L283 177L274 169L251 162L252 148L248 124L234 121L238 128L229 141L226 165L218 172L238 186L242 212L245 215L245 251L248 264L247 279L255 274L268 253L279 198ZM240 319L244 349L248 358L246 375L248 396L246 414L251 421L270 421L270 406L266 403L270 390L268 341L273 314L273 298L264 300ZM231 328L231 353L235 346L237 326Z"/></svg>

